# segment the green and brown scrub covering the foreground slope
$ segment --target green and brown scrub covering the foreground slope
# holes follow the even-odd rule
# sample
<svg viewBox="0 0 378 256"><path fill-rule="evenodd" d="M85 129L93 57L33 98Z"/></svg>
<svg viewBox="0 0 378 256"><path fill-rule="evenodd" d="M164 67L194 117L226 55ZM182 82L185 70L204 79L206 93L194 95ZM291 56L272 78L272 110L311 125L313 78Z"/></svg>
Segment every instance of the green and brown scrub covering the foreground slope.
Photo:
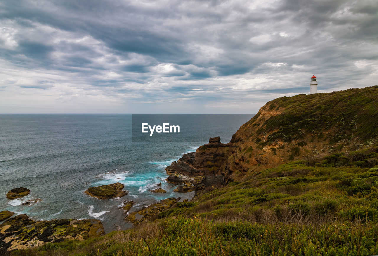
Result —
<svg viewBox="0 0 378 256"><path fill-rule="evenodd" d="M11 255L377 255L378 147L269 168L152 222Z"/></svg>

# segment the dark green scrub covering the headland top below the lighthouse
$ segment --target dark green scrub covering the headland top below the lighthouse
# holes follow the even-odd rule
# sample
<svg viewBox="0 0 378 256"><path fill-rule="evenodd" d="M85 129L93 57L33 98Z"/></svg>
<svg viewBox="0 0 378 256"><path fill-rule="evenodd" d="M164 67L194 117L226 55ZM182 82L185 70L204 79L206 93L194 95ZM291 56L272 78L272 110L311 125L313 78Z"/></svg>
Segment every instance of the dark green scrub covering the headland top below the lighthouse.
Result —
<svg viewBox="0 0 378 256"><path fill-rule="evenodd" d="M353 137L365 143L378 134L378 119L375 118L378 116L377 89L378 86L370 86L277 98L270 102L269 109L285 110L262 123L257 134L270 134L266 143L300 140L309 133L318 134L318 139L330 143L351 140ZM331 133L324 137L328 131Z"/></svg>

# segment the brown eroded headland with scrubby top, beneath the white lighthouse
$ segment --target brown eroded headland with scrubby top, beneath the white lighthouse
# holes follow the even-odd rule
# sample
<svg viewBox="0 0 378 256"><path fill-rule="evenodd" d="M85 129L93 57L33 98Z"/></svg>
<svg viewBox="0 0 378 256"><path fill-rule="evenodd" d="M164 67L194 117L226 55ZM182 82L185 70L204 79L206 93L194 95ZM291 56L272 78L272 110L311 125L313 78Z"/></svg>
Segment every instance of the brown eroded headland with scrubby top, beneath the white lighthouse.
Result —
<svg viewBox="0 0 378 256"><path fill-rule="evenodd" d="M378 86L372 86L272 100L229 143L211 138L173 162L168 181L211 189L293 160L377 144L377 98Z"/></svg>

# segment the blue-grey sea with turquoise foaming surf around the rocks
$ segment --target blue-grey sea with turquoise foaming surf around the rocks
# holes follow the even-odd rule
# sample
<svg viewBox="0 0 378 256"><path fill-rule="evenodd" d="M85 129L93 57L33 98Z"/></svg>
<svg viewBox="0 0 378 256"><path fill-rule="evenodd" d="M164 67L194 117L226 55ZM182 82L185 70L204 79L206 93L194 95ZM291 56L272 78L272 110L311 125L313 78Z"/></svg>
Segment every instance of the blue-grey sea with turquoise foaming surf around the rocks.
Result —
<svg viewBox="0 0 378 256"><path fill-rule="evenodd" d="M118 209L133 200L131 211L167 197L188 198L167 184L165 167L184 153L220 136L232 134L253 115L186 115L197 136L185 134L175 143L132 142L129 114L2 114L0 115L0 210L26 213L33 219L100 219L109 232L131 226ZM88 187L121 182L130 191L121 199L99 200ZM162 183L166 194L149 189ZM9 200L12 188L26 187L28 196ZM43 199L21 205L28 199Z"/></svg>

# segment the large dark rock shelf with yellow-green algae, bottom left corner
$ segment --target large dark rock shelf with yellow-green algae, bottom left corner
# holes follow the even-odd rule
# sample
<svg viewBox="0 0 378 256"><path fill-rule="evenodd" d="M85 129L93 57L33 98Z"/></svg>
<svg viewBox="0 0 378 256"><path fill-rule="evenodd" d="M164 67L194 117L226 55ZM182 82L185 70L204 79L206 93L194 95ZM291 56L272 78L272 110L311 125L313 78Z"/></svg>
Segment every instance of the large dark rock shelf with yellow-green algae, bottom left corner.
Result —
<svg viewBox="0 0 378 256"><path fill-rule="evenodd" d="M12 217L0 225L0 255L6 251L61 242L84 240L105 234L101 221L95 219L60 219L34 221L26 214Z"/></svg>

